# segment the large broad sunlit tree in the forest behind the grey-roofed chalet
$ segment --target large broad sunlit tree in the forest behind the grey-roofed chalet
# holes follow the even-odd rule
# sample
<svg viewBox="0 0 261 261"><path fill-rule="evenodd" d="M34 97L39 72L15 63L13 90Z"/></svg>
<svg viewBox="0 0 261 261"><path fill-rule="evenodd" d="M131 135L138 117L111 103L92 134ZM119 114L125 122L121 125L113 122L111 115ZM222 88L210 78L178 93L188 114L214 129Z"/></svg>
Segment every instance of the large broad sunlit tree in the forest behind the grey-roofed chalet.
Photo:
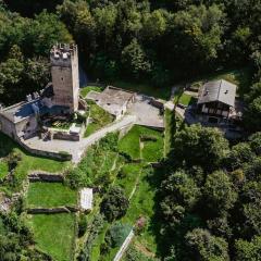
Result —
<svg viewBox="0 0 261 261"><path fill-rule="evenodd" d="M222 9L212 4L189 5L186 10L176 12L170 21L165 45L165 59L169 63L175 61L176 66L190 67L190 76L200 70L208 70L216 60L222 48L225 15ZM192 69L189 64L197 64ZM171 66L171 65L170 65Z"/></svg>

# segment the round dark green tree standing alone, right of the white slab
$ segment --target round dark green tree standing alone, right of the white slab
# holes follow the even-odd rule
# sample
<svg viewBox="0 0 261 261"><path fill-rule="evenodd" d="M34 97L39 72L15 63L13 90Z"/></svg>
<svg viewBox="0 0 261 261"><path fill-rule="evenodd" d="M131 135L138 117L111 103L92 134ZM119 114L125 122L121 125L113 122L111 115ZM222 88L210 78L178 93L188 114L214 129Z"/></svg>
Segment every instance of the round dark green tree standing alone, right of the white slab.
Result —
<svg viewBox="0 0 261 261"><path fill-rule="evenodd" d="M109 222L112 222L126 214L128 204L128 199L125 197L123 189L116 186L111 187L100 204L101 213Z"/></svg>

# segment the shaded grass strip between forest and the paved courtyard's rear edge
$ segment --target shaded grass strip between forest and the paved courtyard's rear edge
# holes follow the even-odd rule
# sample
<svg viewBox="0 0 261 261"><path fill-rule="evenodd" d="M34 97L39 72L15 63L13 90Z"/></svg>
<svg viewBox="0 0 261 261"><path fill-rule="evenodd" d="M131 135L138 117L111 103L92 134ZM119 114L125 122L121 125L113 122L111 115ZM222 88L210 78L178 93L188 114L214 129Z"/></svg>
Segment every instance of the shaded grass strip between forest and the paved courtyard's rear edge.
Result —
<svg viewBox="0 0 261 261"><path fill-rule="evenodd" d="M125 80L115 80L113 86L122 89L141 92L144 95L152 96L163 100L169 100L171 96L171 87L157 88L151 84L130 83Z"/></svg>

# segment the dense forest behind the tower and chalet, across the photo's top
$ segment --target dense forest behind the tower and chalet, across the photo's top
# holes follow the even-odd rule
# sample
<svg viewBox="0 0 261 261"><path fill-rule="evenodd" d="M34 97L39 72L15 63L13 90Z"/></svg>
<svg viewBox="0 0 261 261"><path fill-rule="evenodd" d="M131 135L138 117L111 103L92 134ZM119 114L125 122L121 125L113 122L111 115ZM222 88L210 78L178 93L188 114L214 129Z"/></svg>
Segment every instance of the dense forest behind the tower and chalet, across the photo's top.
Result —
<svg viewBox="0 0 261 261"><path fill-rule="evenodd" d="M54 42L76 41L91 78L162 88L229 67L260 69L260 0L3 1L0 92L5 103L49 80ZM260 126L260 73L245 87L249 128ZM247 115L247 114L246 114Z"/></svg>

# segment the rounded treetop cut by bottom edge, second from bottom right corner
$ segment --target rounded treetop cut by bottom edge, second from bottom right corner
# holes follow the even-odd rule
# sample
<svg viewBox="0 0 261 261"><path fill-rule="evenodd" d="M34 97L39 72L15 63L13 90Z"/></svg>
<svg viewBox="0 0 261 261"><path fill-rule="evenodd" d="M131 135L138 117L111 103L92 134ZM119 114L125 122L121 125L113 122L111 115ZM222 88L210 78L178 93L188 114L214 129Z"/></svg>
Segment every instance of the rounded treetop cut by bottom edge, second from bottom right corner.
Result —
<svg viewBox="0 0 261 261"><path fill-rule="evenodd" d="M228 246L224 238L212 236L209 231L196 228L186 235L191 260L228 261Z"/></svg>

